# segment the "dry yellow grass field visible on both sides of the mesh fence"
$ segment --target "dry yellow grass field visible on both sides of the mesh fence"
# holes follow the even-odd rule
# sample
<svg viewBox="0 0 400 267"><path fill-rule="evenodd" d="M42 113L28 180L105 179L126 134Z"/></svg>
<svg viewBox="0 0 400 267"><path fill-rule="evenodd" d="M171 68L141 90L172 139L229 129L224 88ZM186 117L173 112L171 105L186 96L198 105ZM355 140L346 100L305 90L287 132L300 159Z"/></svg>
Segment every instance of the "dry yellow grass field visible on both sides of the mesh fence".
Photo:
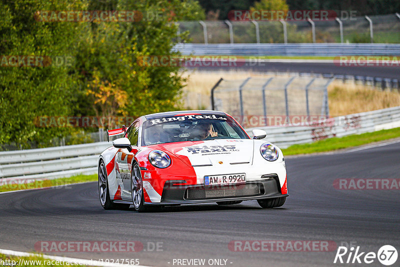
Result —
<svg viewBox="0 0 400 267"><path fill-rule="evenodd" d="M266 73L241 71L189 72L187 84L183 89L185 107L210 108L210 89L219 80L245 79L246 77L270 77ZM352 114L400 105L400 93L380 91L354 83L333 81L328 87L328 102L331 116Z"/></svg>

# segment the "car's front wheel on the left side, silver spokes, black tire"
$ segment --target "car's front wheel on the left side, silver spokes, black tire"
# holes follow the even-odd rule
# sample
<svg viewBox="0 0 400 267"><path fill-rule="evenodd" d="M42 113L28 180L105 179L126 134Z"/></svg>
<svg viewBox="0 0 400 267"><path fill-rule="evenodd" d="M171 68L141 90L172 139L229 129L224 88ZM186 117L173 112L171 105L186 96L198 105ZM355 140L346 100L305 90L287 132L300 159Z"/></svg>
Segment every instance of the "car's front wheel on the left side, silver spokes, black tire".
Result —
<svg viewBox="0 0 400 267"><path fill-rule="evenodd" d="M147 211L148 207L144 205L143 181L141 179L140 167L136 162L132 166L130 192L133 208L138 212Z"/></svg>

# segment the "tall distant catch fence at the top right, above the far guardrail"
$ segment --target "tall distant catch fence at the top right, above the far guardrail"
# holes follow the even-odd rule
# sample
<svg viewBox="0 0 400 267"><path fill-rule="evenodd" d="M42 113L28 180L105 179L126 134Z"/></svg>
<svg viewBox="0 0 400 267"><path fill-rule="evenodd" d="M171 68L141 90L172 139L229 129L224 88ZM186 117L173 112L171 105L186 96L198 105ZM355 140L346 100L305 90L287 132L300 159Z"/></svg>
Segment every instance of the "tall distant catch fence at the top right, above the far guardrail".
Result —
<svg viewBox="0 0 400 267"><path fill-rule="evenodd" d="M329 20L180 21L191 43L400 43L400 14Z"/></svg>

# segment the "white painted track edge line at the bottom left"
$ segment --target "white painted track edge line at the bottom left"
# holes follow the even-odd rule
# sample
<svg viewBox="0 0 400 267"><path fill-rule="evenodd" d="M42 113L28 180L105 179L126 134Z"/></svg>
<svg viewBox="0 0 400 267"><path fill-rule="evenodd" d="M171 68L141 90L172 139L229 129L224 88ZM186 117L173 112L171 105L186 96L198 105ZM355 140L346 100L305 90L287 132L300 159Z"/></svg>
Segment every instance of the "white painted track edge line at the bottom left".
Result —
<svg viewBox="0 0 400 267"><path fill-rule="evenodd" d="M58 260L58 261L68 261L73 262L74 264L79 265L88 265L88 266L103 266L103 267L149 267L144 265L129 265L129 264L118 264L118 263L111 263L111 262L103 262L98 260L91 260L91 259L84 259L84 258L73 258L73 257L62 257L62 256L50 256L50 255L43 255L43 254L35 254L35 253L28 253L22 251L15 251L15 250L8 250L8 249L1 249L0 253L5 255L13 255L18 257L28 257L28 256L42 256L43 258Z"/></svg>

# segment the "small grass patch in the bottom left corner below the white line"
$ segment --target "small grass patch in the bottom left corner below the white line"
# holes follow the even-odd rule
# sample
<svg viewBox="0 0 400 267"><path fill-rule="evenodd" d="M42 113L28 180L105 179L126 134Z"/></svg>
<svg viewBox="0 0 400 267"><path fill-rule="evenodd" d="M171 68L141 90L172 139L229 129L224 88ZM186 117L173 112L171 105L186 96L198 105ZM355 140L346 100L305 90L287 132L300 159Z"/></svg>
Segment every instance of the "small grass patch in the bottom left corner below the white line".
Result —
<svg viewBox="0 0 400 267"><path fill-rule="evenodd" d="M41 267L41 266L85 266L85 265L70 265L70 262L59 262L53 259L44 258L41 255L32 255L26 257L11 256L0 254L2 265L6 266L26 266L26 267Z"/></svg>

